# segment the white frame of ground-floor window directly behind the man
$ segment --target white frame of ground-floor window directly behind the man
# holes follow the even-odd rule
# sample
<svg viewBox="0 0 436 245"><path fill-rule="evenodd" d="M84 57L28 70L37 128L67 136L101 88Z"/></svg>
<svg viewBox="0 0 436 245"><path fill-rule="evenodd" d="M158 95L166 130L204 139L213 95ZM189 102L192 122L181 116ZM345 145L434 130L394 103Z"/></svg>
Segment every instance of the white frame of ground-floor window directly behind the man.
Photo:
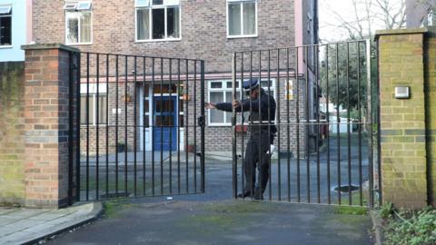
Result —
<svg viewBox="0 0 436 245"><path fill-rule="evenodd" d="M268 78L263 78L262 82L266 82L268 81ZM275 100L277 100L277 92L275 91L275 78L270 78L271 81L271 87L270 87L270 91L272 91L273 97ZM232 82L232 80L210 80L207 81L207 97L209 102L211 102L211 92L215 92L215 93L223 93L223 99L225 102L225 93L228 92L233 92L233 88L227 88L227 82ZM241 92L242 91L242 83L241 80L236 80L237 83L239 83L239 88L236 89L236 92ZM212 83L222 83L223 86L221 88L212 88L211 84ZM265 93L268 93L268 87L263 87L263 90L265 91ZM242 94L242 93L241 93ZM246 96L244 96L243 98L247 98ZM214 103L214 102L212 102ZM216 110L216 109L214 109ZM244 112L245 113L245 112ZM238 117L240 118L240 116ZM232 126L232 122L225 122L226 121L226 112L224 112L224 117L223 117L223 122L211 122L211 110L208 110L207 112L207 125L210 127L227 127L227 126ZM246 122L244 122L244 124L246 124L248 121L248 118L245 119Z"/></svg>

